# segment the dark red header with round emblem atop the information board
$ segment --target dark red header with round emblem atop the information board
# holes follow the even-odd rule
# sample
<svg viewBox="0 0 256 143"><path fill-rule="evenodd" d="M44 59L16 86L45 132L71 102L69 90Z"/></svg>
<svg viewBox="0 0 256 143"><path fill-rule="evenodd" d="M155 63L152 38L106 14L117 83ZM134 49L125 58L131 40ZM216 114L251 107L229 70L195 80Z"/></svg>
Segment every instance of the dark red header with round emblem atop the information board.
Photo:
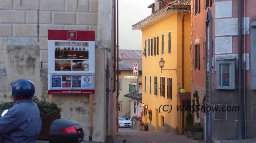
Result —
<svg viewBox="0 0 256 143"><path fill-rule="evenodd" d="M95 32L74 30L48 30L48 40L95 41Z"/></svg>

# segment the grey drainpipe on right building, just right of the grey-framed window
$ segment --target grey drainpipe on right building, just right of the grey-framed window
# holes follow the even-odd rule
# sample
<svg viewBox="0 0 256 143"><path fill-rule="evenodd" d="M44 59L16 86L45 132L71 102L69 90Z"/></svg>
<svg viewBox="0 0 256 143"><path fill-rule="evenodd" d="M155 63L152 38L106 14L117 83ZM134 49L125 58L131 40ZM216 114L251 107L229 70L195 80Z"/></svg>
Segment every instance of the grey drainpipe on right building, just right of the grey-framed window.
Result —
<svg viewBox="0 0 256 143"><path fill-rule="evenodd" d="M242 107L242 0L238 0L238 106ZM243 139L243 110L239 111L238 140Z"/></svg>

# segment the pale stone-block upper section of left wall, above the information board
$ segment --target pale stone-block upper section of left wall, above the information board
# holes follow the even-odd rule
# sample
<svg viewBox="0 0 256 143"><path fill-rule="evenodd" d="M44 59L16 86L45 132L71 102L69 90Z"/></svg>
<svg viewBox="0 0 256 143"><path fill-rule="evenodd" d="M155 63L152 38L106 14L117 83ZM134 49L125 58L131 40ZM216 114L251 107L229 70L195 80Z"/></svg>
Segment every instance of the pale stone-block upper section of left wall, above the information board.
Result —
<svg viewBox="0 0 256 143"><path fill-rule="evenodd" d="M0 68L4 68L4 37L37 40L42 68L48 64L48 30L95 31L97 38L98 0L0 0Z"/></svg>

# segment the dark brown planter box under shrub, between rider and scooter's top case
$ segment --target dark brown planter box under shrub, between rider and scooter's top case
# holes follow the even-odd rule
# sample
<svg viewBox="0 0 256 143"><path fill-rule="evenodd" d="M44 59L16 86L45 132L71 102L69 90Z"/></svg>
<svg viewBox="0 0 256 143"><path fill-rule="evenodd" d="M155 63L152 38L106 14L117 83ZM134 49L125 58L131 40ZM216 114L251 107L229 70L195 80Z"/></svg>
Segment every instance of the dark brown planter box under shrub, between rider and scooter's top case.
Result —
<svg viewBox="0 0 256 143"><path fill-rule="evenodd" d="M50 130L50 126L52 122L56 119L60 119L60 115L56 114L40 114L42 119L42 127L39 134L39 140L48 140L48 132Z"/></svg>

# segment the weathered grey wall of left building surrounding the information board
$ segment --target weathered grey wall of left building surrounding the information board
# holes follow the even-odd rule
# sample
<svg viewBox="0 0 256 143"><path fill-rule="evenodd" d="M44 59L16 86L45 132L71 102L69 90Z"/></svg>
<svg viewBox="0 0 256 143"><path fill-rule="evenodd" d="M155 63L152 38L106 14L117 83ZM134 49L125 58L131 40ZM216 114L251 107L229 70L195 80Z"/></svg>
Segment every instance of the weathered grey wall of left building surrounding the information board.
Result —
<svg viewBox="0 0 256 143"><path fill-rule="evenodd" d="M93 141L111 142L117 134L113 91L113 0L0 0L0 100L12 101L9 81L31 79L36 95L48 101L48 30L96 32L96 87ZM39 9L39 42L37 42ZM9 37L4 41L5 37ZM15 39L16 42L13 40ZM33 59L34 62L31 61ZM61 118L79 122L89 140L89 96L53 95Z"/></svg>

